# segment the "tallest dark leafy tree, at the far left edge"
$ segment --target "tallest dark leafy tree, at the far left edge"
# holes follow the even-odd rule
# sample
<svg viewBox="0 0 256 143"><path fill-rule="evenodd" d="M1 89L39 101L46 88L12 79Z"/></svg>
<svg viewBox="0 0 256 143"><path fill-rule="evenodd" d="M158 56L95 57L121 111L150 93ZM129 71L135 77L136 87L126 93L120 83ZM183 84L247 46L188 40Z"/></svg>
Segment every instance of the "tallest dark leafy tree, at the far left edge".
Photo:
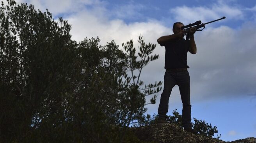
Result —
<svg viewBox="0 0 256 143"><path fill-rule="evenodd" d="M0 9L0 132L3 140L29 140L39 127L65 120L60 114L75 87L70 79L77 44L70 40L70 25L60 19L57 26L48 10L7 2Z"/></svg>

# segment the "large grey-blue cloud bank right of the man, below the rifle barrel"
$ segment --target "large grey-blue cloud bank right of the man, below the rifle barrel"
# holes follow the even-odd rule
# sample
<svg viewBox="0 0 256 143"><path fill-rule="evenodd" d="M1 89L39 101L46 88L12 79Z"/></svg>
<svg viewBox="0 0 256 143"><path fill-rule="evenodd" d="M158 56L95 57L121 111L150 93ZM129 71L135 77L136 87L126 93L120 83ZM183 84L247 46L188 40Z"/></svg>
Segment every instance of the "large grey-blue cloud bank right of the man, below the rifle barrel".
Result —
<svg viewBox="0 0 256 143"><path fill-rule="evenodd" d="M192 85L198 90L194 94L217 98L255 92L256 34L247 34L245 29L221 26L196 33L197 55L188 58L194 75L192 82L202 85L203 90Z"/></svg>

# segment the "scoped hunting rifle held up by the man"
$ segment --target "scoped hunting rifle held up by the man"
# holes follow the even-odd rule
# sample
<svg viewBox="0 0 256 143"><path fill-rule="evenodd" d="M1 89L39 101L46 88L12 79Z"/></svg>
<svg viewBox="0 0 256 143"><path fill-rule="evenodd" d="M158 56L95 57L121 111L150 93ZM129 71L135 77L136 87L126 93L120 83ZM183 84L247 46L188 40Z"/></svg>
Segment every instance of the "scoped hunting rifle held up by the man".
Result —
<svg viewBox="0 0 256 143"><path fill-rule="evenodd" d="M196 21L195 23L189 23L188 25L185 25L185 26L182 26L181 27L181 30L183 30L185 32L185 35L187 34L187 37L186 37L186 40L188 40L188 37L189 37L189 30L192 26L194 26L196 28L196 31L202 31L204 28L205 28L205 24L209 24L209 23L213 23L215 21L219 21L221 19L225 19L226 17L223 16L222 18L220 19L217 19L217 20L213 20L213 21L210 21L208 23L202 23L200 20L199 21ZM202 23L202 24L201 24ZM195 26L196 25L196 26ZM203 29L199 29L199 28L202 28L204 27Z"/></svg>

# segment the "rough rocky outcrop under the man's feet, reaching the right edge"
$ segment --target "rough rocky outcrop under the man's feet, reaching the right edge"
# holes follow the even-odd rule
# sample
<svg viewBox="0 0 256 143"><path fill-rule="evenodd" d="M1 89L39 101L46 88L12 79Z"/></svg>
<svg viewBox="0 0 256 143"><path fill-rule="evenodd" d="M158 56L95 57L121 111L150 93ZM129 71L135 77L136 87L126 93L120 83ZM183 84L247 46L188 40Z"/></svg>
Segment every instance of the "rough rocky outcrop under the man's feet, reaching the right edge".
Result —
<svg viewBox="0 0 256 143"><path fill-rule="evenodd" d="M131 128L131 130L141 141L150 143L256 143L256 138L253 137L226 142L200 134L188 133L176 124L168 123Z"/></svg>

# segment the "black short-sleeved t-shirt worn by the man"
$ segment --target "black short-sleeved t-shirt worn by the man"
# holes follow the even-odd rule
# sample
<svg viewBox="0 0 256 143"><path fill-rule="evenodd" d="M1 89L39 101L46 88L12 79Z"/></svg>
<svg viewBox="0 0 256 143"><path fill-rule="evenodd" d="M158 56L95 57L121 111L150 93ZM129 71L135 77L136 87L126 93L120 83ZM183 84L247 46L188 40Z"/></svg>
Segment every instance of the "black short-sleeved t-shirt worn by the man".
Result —
<svg viewBox="0 0 256 143"><path fill-rule="evenodd" d="M165 65L164 68L189 68L187 65L187 53L190 46L189 41L181 39L175 42L166 42L161 45L165 47Z"/></svg>

